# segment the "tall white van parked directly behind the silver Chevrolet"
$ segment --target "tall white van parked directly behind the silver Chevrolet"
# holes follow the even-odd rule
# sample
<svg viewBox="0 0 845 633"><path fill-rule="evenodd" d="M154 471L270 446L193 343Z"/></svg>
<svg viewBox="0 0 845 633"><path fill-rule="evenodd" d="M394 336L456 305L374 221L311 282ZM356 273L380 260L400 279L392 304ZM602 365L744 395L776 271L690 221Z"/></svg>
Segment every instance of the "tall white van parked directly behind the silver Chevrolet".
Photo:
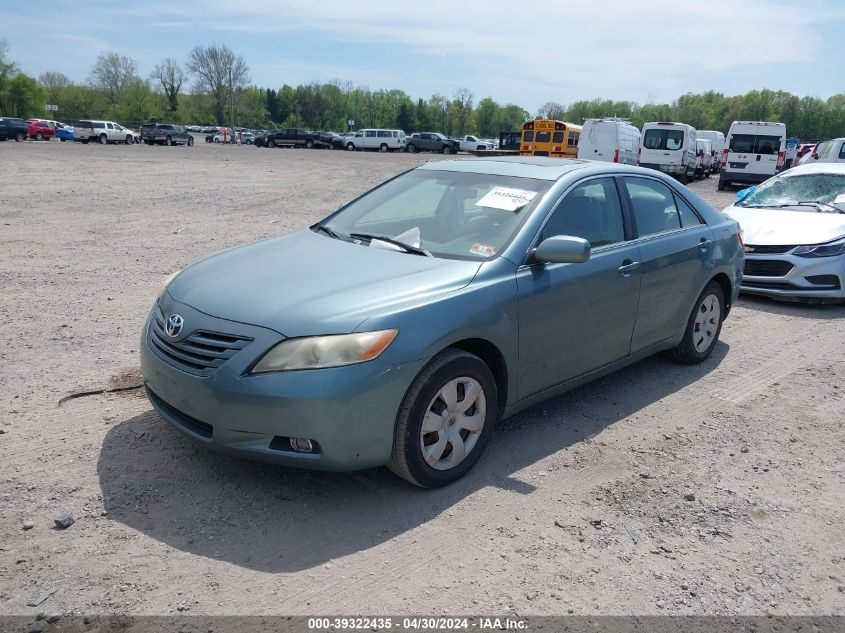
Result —
<svg viewBox="0 0 845 633"><path fill-rule="evenodd" d="M756 185L783 169L786 126L768 121L734 121L722 150L719 191L730 183Z"/></svg>

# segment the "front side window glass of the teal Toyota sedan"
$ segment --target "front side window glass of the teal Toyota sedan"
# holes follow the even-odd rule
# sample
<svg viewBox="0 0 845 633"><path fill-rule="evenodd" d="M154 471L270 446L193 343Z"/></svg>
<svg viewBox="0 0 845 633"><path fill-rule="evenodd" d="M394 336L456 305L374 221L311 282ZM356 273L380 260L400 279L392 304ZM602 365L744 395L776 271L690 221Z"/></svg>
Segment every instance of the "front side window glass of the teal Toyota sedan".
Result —
<svg viewBox="0 0 845 633"><path fill-rule="evenodd" d="M613 178L596 178L566 194L543 227L541 239L555 235L582 237L592 248L622 242L622 207Z"/></svg>

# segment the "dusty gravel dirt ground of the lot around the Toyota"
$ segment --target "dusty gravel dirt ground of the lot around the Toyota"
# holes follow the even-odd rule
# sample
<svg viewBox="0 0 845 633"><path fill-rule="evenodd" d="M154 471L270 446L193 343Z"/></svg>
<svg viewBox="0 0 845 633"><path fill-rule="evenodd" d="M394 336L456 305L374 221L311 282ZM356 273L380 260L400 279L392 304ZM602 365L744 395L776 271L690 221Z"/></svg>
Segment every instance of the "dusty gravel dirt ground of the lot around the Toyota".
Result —
<svg viewBox="0 0 845 633"><path fill-rule="evenodd" d="M743 298L708 362L526 411L436 491L59 406L137 380L172 271L436 158L0 143L0 614L845 612L843 307Z"/></svg>

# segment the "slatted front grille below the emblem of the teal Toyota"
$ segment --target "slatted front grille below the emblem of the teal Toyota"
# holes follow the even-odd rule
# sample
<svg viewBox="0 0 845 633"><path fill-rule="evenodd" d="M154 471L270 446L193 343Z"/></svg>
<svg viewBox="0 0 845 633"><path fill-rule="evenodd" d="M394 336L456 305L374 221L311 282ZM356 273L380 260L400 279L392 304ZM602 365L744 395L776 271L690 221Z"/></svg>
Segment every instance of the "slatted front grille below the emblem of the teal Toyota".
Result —
<svg viewBox="0 0 845 633"><path fill-rule="evenodd" d="M196 330L181 341L164 331L164 313L156 309L150 327L150 346L162 360L188 373L207 375L247 346L251 338Z"/></svg>

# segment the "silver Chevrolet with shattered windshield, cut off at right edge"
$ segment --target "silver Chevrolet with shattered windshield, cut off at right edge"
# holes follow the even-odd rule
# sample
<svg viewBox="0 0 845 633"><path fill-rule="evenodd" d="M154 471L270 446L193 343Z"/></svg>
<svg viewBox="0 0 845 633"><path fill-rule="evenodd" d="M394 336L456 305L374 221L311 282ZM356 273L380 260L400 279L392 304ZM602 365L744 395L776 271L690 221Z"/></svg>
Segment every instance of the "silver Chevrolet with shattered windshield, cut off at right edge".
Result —
<svg viewBox="0 0 845 633"><path fill-rule="evenodd" d="M745 240L744 292L845 300L845 164L799 165L737 197L725 213Z"/></svg>

